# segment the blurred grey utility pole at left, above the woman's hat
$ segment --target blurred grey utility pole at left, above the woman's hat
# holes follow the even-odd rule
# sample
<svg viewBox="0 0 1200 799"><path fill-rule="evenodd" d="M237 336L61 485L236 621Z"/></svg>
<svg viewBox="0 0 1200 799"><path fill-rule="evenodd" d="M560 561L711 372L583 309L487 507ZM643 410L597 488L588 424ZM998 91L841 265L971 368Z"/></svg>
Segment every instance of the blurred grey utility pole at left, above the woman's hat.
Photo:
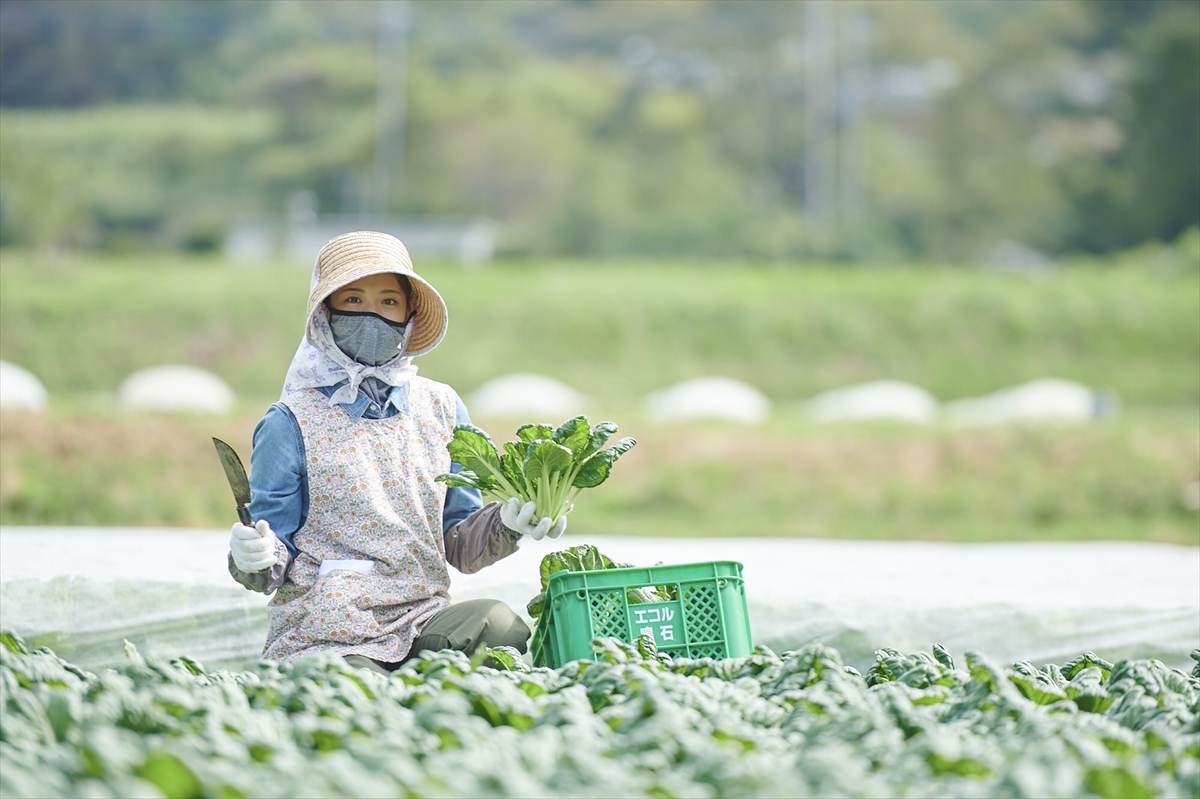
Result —
<svg viewBox="0 0 1200 799"><path fill-rule="evenodd" d="M378 0L376 88L376 161L372 174L371 210L391 210L395 188L404 180L404 124L407 113L408 0Z"/></svg>

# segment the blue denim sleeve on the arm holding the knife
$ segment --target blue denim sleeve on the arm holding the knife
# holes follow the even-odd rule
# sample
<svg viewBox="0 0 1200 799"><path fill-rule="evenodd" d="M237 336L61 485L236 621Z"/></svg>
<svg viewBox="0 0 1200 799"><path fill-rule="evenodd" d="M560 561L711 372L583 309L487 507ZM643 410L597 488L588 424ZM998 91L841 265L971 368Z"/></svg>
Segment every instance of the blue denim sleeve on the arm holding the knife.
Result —
<svg viewBox="0 0 1200 799"><path fill-rule="evenodd" d="M275 536L295 558L292 536L304 527L308 501L308 469L305 468L304 438L295 416L284 405L274 404L254 427L250 455L250 515L266 519Z"/></svg>

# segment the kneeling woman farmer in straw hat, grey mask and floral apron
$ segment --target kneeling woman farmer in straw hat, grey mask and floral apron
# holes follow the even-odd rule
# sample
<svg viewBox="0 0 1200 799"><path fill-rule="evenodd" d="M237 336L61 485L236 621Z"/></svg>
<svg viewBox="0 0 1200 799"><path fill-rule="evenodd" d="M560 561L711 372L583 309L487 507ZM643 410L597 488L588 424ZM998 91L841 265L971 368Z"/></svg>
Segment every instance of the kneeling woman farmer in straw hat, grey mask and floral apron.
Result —
<svg viewBox="0 0 1200 799"><path fill-rule="evenodd" d="M526 650L529 627L503 602L450 602L446 564L475 572L524 535L558 537L566 518L534 519L516 499L484 506L478 491L434 481L461 469L446 444L469 417L413 359L446 323L397 239L348 233L317 256L304 340L254 428L258 521L229 537L234 579L275 594L264 657L336 653L390 672L422 649Z"/></svg>

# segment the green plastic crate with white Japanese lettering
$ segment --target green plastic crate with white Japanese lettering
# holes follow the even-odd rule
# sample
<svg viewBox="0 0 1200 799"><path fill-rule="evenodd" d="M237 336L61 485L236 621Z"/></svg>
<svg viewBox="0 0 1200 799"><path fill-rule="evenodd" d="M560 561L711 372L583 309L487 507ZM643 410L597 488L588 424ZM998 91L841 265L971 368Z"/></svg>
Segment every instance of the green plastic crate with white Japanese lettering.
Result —
<svg viewBox="0 0 1200 799"><path fill-rule="evenodd" d="M666 602L629 602L630 589L673 589ZM649 633L659 651L682 657L745 657L754 650L742 564L732 560L644 569L559 571L530 644L535 666L594 660L592 639L626 643Z"/></svg>

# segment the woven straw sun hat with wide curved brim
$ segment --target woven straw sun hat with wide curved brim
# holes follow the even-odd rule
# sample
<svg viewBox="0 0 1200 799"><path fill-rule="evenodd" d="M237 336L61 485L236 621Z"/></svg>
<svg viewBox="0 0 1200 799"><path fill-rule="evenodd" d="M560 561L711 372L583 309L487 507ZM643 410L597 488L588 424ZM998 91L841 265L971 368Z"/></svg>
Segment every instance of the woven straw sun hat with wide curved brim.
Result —
<svg viewBox="0 0 1200 799"><path fill-rule="evenodd" d="M446 304L424 277L413 271L408 250L400 239L386 233L343 233L320 248L313 275L316 286L308 295L308 316L305 318L312 319L317 307L337 289L380 272L403 275L412 287L408 310L415 311L416 318L406 354L422 355L437 347L446 335Z"/></svg>

